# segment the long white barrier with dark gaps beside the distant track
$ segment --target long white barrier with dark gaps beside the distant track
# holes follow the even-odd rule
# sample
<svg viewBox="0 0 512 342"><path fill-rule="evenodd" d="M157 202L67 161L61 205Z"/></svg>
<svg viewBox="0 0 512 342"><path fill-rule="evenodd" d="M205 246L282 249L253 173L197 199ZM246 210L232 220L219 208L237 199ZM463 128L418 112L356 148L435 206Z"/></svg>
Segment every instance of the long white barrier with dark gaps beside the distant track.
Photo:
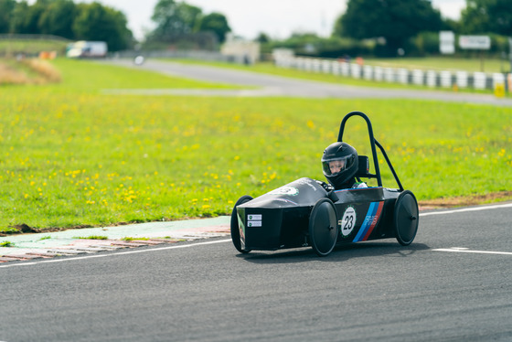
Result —
<svg viewBox="0 0 512 342"><path fill-rule="evenodd" d="M512 89L511 74L484 72L469 73L464 70L421 70L389 68L368 64L352 63L337 59L314 59L306 57L282 57L274 59L280 68L300 69L308 72L323 72L354 79L398 82L401 84L424 85L430 88L470 88L495 91L496 86L505 91Z"/></svg>

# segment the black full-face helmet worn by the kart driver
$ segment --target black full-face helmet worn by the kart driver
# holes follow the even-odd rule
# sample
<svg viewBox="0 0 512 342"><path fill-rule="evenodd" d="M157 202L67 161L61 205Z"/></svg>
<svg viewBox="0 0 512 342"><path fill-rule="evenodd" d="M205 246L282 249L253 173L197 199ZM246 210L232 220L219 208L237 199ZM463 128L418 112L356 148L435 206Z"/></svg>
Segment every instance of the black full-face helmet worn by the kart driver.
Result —
<svg viewBox="0 0 512 342"><path fill-rule="evenodd" d="M356 175L358 168L357 151L347 143L337 142L325 148L322 156L324 175L336 189L346 185Z"/></svg>

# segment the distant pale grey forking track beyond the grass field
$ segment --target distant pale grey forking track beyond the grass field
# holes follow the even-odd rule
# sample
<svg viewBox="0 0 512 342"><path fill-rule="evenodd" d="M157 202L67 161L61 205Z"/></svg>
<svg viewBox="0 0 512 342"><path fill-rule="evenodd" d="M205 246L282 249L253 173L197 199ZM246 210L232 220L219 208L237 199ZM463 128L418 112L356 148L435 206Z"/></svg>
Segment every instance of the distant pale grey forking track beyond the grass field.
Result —
<svg viewBox="0 0 512 342"><path fill-rule="evenodd" d="M142 66L135 66L130 59L108 59L102 61L127 68L148 69L167 75L183 77L191 80L204 80L231 85L259 87L244 90L194 90L194 89L105 89L108 94L138 95L192 95L192 96L276 96L300 98L337 98L337 99L420 99L443 102L463 102L473 104L489 104L494 106L512 106L512 99L496 98L491 94L434 91L385 89L350 86L340 83L325 83L314 80L299 80L239 69L219 69L204 65L183 64L177 62L148 59Z"/></svg>

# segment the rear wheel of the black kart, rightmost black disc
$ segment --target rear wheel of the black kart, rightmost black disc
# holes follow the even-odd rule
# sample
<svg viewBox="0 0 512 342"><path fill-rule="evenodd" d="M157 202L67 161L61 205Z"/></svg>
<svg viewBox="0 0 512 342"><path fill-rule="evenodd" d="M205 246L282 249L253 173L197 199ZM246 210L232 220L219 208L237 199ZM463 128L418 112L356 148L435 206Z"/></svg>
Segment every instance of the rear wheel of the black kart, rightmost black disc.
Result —
<svg viewBox="0 0 512 342"><path fill-rule="evenodd" d="M418 201L414 194L409 190L403 191L395 202L393 217L395 237L400 245L409 246L416 237L420 219L419 212Z"/></svg>

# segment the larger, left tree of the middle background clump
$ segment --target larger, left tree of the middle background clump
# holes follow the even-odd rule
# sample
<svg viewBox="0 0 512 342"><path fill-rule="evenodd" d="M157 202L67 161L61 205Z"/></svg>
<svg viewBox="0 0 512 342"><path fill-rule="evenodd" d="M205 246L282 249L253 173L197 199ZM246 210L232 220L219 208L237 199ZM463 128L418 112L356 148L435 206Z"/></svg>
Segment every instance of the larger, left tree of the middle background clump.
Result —
<svg viewBox="0 0 512 342"><path fill-rule="evenodd" d="M155 22L155 30L150 37L155 40L168 40L198 30L201 9L175 0L159 0L155 5L151 19Z"/></svg>

